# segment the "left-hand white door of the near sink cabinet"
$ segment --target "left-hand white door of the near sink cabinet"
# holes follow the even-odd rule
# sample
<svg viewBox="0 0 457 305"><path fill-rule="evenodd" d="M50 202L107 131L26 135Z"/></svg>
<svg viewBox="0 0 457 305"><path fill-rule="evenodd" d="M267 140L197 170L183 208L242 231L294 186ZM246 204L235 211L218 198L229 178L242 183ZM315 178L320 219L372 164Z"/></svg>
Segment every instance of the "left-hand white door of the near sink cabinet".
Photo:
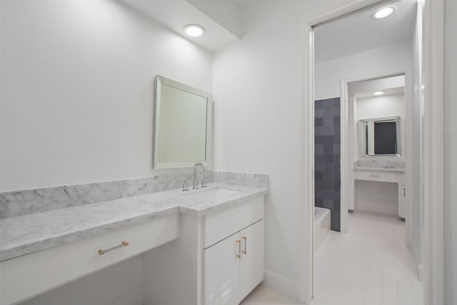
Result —
<svg viewBox="0 0 457 305"><path fill-rule="evenodd" d="M239 303L240 234L204 249L204 304Z"/></svg>

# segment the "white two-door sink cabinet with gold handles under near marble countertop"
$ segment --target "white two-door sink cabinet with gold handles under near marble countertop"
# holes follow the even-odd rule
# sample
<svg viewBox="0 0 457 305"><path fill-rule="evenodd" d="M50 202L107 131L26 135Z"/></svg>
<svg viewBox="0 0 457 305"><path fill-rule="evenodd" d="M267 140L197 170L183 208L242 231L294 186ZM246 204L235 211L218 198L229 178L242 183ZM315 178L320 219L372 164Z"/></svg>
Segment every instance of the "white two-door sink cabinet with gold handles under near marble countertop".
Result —
<svg viewBox="0 0 457 305"><path fill-rule="evenodd" d="M263 280L263 206L181 214L180 238L143 256L145 304L239 304Z"/></svg>

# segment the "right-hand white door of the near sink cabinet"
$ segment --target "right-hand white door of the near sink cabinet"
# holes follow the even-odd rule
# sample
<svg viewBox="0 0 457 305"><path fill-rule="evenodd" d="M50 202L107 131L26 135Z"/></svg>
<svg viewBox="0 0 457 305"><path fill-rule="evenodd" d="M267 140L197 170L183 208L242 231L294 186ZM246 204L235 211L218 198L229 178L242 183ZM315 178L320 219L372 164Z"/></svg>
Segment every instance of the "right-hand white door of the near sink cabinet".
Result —
<svg viewBox="0 0 457 305"><path fill-rule="evenodd" d="M241 301L263 280L263 220L241 232L240 292Z"/></svg>

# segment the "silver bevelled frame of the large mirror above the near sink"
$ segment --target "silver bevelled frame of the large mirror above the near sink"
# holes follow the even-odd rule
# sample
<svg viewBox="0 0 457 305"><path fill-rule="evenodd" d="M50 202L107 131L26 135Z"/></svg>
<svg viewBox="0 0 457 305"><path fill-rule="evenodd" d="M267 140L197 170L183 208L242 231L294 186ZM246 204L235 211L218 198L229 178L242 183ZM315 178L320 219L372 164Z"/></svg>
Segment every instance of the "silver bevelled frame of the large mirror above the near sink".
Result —
<svg viewBox="0 0 457 305"><path fill-rule="evenodd" d="M189 92L202 96L206 99L206 147L205 147L205 160L198 160L194 162L159 162L158 156L156 156L158 150L156 150L156 123L157 123L157 104L160 103L159 94L161 93L161 85L170 86L182 91ZM196 89L186 84L179 83L167 79L164 76L156 75L156 81L154 85L154 106L153 106L153 126L152 126L152 165L153 169L185 169L194 167L196 162L202 162L204 166L211 169L211 158L212 158L212 147L213 147L213 102L211 100L211 94L206 91Z"/></svg>

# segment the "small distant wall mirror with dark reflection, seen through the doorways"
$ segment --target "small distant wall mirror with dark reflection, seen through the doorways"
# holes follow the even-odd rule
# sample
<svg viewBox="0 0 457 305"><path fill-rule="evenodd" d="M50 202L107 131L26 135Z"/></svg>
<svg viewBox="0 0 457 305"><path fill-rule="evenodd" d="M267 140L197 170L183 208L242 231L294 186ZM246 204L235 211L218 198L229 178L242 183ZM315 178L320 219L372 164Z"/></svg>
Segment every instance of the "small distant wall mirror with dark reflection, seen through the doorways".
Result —
<svg viewBox="0 0 457 305"><path fill-rule="evenodd" d="M361 156L401 156L400 116L358 121Z"/></svg>

